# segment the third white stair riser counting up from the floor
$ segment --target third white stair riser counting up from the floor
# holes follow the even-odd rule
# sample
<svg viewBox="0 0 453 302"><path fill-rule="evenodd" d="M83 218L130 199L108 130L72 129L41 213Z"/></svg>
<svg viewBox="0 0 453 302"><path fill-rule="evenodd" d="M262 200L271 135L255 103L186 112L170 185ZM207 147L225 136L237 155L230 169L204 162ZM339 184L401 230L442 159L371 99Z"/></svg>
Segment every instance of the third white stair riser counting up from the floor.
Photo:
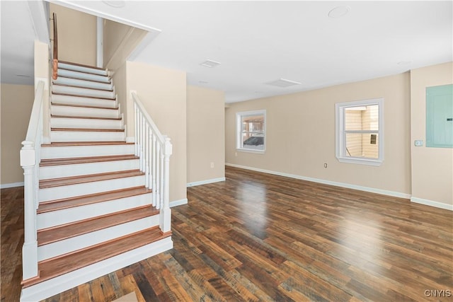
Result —
<svg viewBox="0 0 453 302"><path fill-rule="evenodd" d="M116 211L125 211L135 207L142 207L151 204L152 194L140 194L137 196L125 197L120 199L109 200L106 202L97 202L96 204L86 204L80 207L72 207L59 211L49 211L38 214L36 217L36 228L51 228L64 223L71 223L82 219L89 219L96 216L111 214Z"/></svg>

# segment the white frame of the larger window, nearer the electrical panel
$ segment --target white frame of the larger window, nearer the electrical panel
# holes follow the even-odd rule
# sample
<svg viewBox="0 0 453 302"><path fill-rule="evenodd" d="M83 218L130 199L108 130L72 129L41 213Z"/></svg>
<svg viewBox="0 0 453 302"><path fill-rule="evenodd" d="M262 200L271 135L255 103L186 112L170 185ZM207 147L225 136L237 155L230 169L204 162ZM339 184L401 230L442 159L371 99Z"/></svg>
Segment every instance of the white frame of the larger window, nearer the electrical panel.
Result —
<svg viewBox="0 0 453 302"><path fill-rule="evenodd" d="M352 157L346 154L345 109L350 107L378 105L379 130L375 133L379 137L379 158ZM357 163L361 165L382 165L384 161L384 98L357 100L354 102L336 103L336 158L341 163ZM355 133L373 133L371 130L355 131ZM351 133L348 131L348 133ZM354 132L352 132L354 133Z"/></svg>

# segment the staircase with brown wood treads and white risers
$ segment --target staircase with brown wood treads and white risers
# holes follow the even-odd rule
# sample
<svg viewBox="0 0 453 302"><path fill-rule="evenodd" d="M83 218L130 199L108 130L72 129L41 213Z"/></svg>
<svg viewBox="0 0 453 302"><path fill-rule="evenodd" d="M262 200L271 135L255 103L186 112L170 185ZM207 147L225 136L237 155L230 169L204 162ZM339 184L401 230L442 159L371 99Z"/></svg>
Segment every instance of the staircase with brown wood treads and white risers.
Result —
<svg viewBox="0 0 453 302"><path fill-rule="evenodd" d="M173 247L169 227L161 227L158 189L147 185L147 150L126 142L108 71L58 62L57 75L51 142L38 150L38 276L25 278L24 261L21 301L48 298ZM31 245L25 238L24 260Z"/></svg>

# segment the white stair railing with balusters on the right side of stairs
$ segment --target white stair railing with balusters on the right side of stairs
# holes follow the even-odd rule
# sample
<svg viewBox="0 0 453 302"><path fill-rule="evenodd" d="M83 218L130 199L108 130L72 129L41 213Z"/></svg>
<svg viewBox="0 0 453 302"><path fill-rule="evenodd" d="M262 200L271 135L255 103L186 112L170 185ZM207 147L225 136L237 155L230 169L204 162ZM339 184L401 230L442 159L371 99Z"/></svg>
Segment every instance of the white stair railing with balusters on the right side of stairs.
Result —
<svg viewBox="0 0 453 302"><path fill-rule="evenodd" d="M135 155L140 157L140 170L145 174L145 186L152 190L152 204L160 210L162 232L171 231L170 194L170 139L162 135L145 110L135 91L134 102Z"/></svg>

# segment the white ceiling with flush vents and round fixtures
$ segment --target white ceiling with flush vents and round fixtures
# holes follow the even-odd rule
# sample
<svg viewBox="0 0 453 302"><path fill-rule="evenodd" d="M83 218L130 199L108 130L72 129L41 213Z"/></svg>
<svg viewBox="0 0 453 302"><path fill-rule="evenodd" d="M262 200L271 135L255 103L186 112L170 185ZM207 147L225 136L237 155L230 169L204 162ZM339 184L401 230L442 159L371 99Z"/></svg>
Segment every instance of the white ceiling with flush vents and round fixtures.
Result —
<svg viewBox="0 0 453 302"><path fill-rule="evenodd" d="M188 84L225 91L226 103L453 61L453 1L52 2L161 30L134 61L186 71ZM33 35L11 4L1 1L2 82L33 65ZM329 18L337 6L350 11ZM207 59L221 64L201 66ZM278 79L301 84L265 84Z"/></svg>

